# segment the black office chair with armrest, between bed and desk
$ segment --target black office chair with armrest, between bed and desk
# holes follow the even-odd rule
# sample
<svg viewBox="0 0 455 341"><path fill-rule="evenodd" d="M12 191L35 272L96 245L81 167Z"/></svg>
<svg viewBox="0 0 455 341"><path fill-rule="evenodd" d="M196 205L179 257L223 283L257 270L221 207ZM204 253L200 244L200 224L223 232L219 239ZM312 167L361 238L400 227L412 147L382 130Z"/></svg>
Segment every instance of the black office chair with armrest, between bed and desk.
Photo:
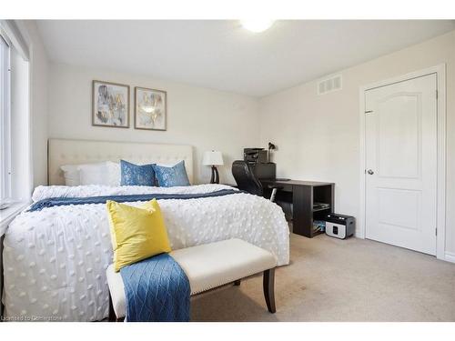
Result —
<svg viewBox="0 0 455 341"><path fill-rule="evenodd" d="M246 191L252 195L263 196L264 188L258 178L253 174L249 165L243 160L236 160L232 163L232 176L236 179L238 189ZM279 186L268 186L272 190L270 201L275 201Z"/></svg>

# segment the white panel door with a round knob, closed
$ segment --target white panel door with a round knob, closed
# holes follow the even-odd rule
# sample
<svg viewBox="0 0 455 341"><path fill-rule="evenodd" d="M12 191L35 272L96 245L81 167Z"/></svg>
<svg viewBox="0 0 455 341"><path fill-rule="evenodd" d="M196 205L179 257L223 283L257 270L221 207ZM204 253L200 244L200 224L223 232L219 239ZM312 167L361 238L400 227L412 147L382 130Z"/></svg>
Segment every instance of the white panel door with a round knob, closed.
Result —
<svg viewBox="0 0 455 341"><path fill-rule="evenodd" d="M436 254L437 78L365 92L366 236Z"/></svg>

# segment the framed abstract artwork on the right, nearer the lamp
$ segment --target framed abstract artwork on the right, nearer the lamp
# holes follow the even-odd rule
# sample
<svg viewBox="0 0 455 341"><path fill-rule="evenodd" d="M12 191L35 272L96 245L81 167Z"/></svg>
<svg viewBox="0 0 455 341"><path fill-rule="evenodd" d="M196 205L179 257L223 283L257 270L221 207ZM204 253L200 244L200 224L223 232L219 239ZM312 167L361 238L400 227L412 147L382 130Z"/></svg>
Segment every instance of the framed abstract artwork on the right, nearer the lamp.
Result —
<svg viewBox="0 0 455 341"><path fill-rule="evenodd" d="M135 87L135 128L166 130L166 91Z"/></svg>

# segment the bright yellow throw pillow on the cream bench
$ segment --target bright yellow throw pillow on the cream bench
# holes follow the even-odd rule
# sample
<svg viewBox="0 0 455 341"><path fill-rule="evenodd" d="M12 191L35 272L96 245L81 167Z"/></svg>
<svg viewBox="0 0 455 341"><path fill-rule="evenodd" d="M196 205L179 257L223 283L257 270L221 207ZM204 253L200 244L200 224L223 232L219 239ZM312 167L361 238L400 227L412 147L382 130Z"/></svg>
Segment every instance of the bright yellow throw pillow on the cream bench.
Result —
<svg viewBox="0 0 455 341"><path fill-rule="evenodd" d="M107 200L106 208L116 272L123 266L171 251L157 200L139 207Z"/></svg>

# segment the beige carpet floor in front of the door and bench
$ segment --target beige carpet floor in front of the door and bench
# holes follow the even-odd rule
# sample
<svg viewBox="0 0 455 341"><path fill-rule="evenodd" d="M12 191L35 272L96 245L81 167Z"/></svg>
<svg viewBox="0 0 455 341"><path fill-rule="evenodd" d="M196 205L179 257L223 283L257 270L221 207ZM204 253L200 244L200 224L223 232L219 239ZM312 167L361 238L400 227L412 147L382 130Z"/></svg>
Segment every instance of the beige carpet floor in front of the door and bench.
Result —
<svg viewBox="0 0 455 341"><path fill-rule="evenodd" d="M396 246L292 235L276 272L277 313L262 277L192 302L193 321L455 321L455 264Z"/></svg>

